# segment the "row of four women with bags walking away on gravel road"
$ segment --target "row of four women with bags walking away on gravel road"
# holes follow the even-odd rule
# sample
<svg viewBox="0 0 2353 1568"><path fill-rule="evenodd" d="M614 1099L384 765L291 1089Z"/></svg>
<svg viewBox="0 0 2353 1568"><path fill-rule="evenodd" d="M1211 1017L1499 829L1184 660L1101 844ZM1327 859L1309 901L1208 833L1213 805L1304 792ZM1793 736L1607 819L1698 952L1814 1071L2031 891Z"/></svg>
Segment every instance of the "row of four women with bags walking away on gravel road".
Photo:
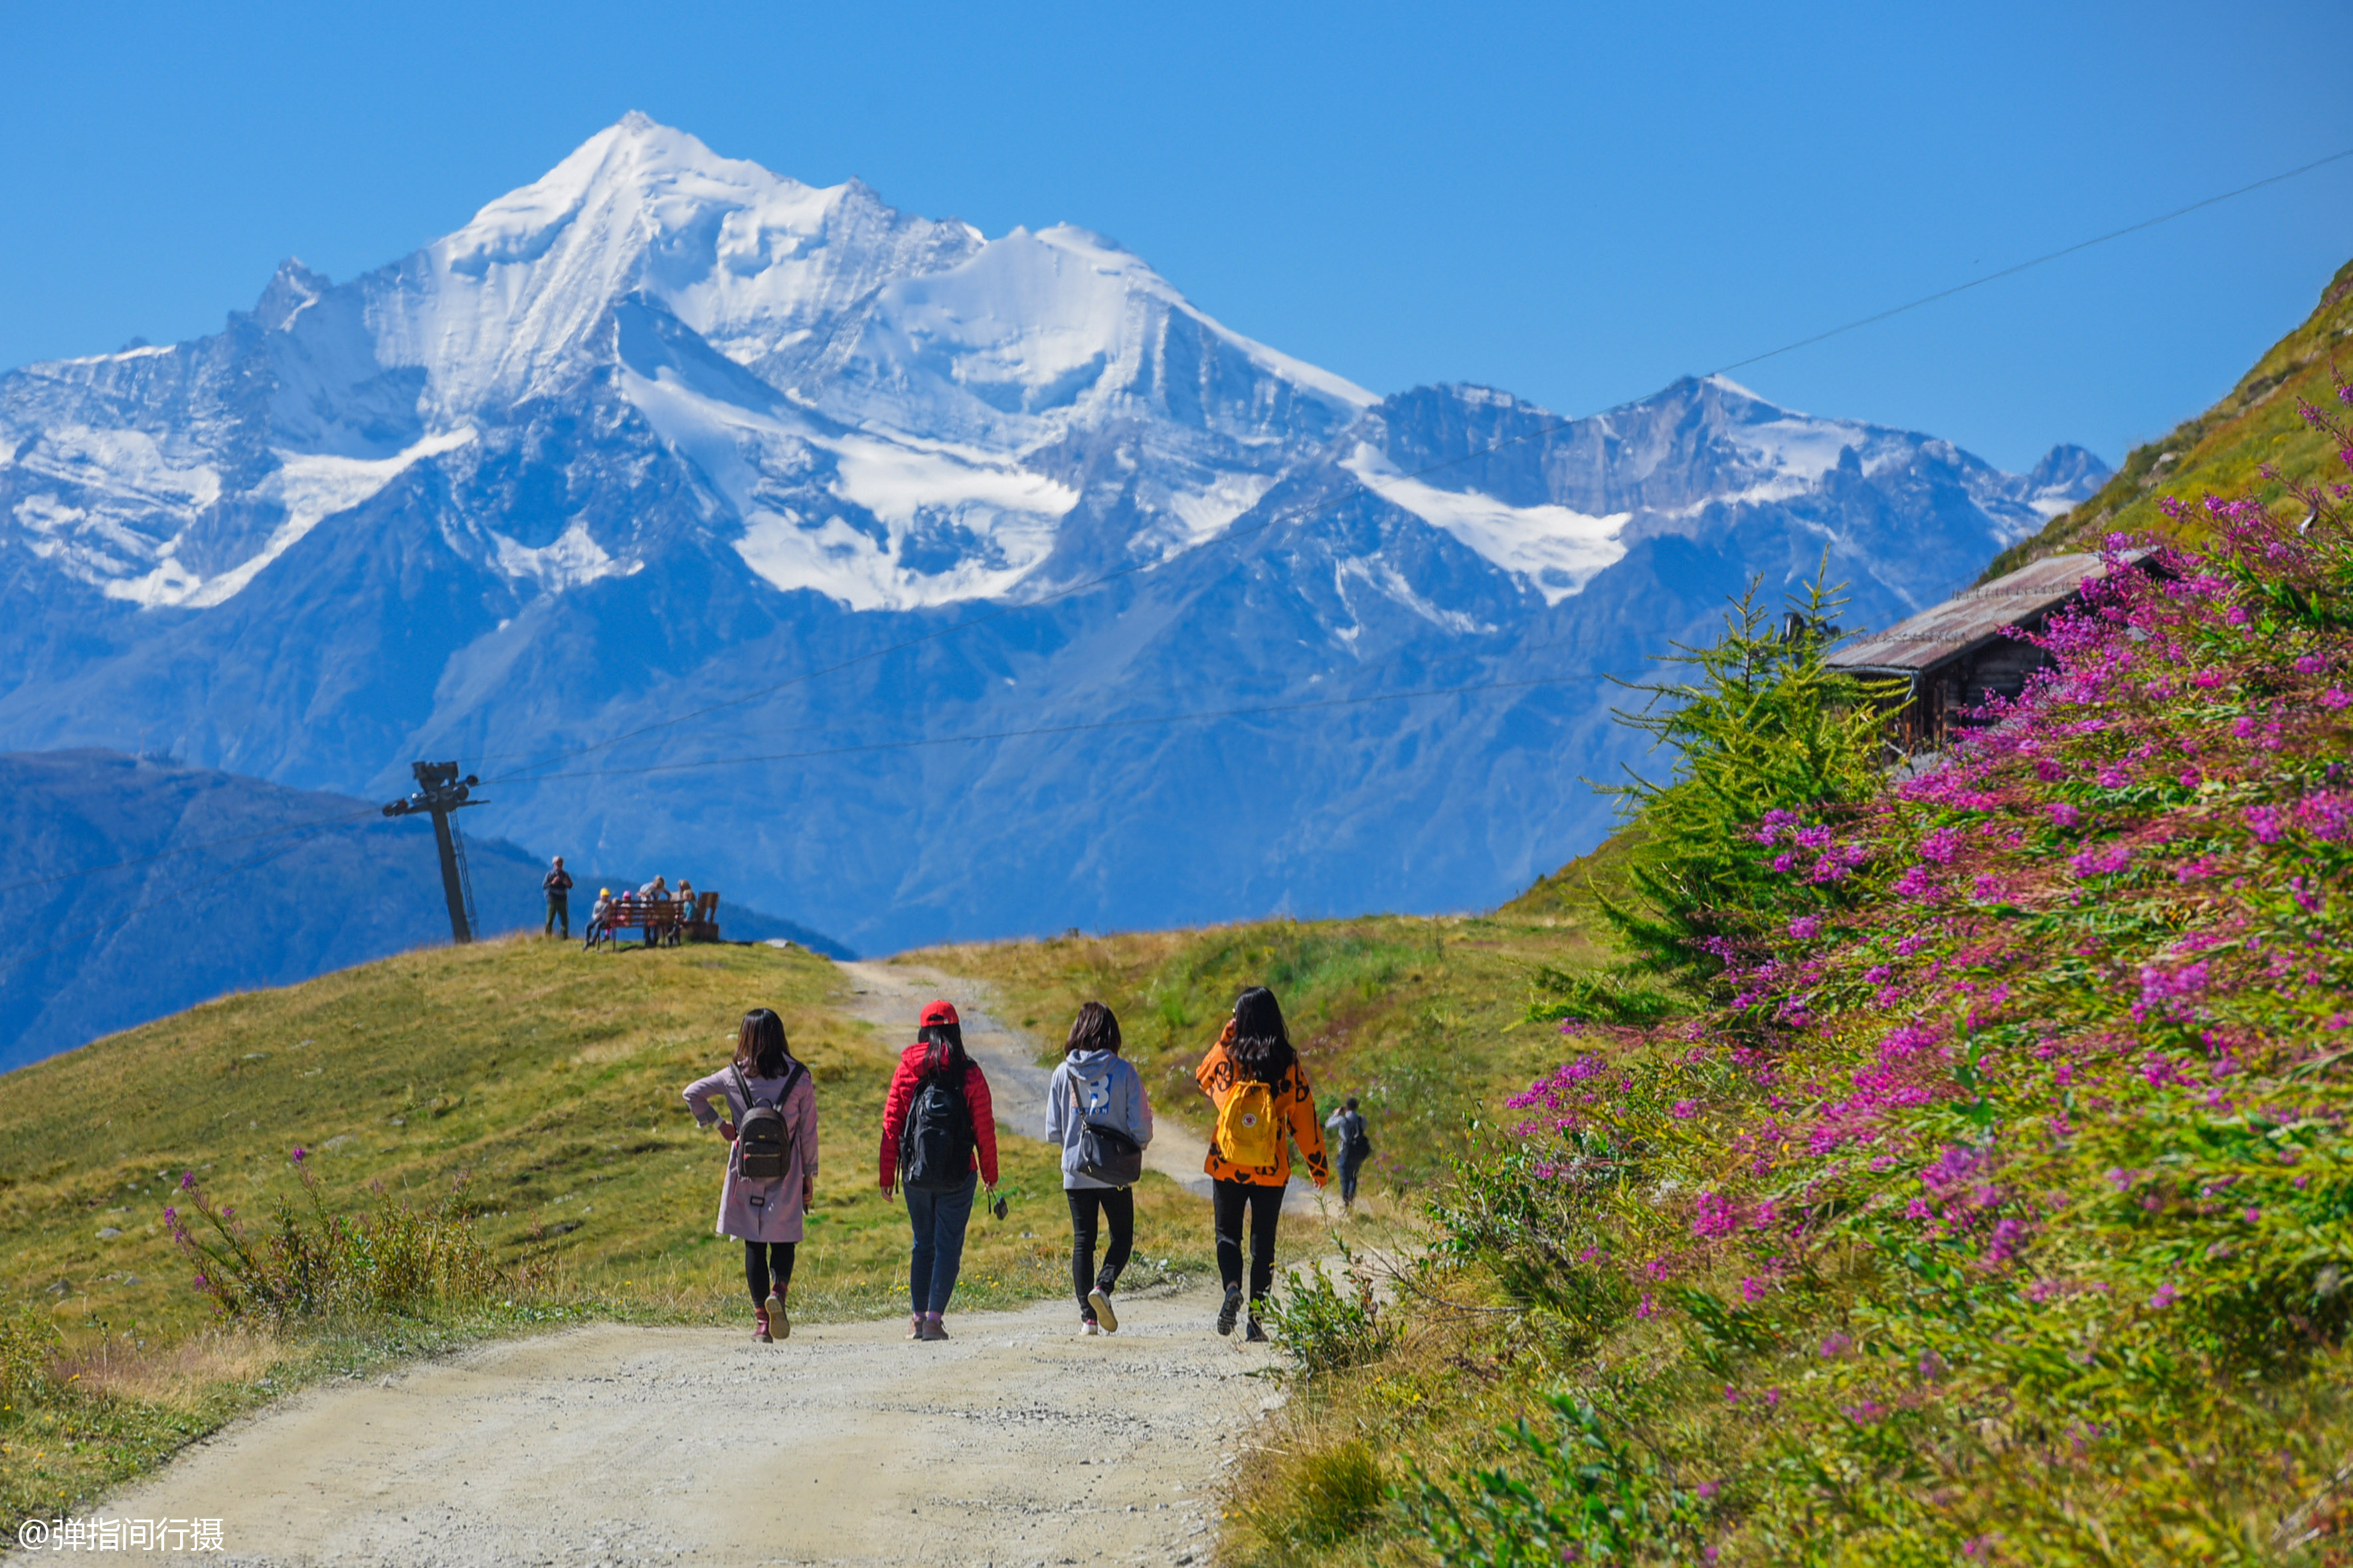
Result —
<svg viewBox="0 0 2353 1568"><path fill-rule="evenodd" d="M1226 1298L1217 1331L1264 1340L1259 1302L1275 1276L1275 1225L1289 1185L1289 1143L1322 1187L1332 1178L1315 1093L1266 987L1245 990L1224 1032L1193 1072L1217 1107L1202 1171L1212 1180L1217 1267ZM744 1016L734 1060L685 1088L696 1124L729 1140L718 1234L744 1244L744 1286L753 1340L793 1331L786 1300L802 1220L816 1204L816 1086L769 1009ZM1120 1020L1087 1001L1071 1023L1061 1065L1047 1084L1047 1140L1061 1145L1061 1187L1071 1206L1071 1288L1082 1333L1115 1333L1113 1291L1134 1253L1141 1150L1153 1140L1144 1077L1120 1056ZM880 1182L904 1192L908 1338L946 1340L941 1314L965 1255L965 1225L979 1187L998 1218L998 1124L988 1077L965 1053L962 1023L946 1001L922 1009L915 1044L899 1056L882 1103ZM1108 1232L1108 1234L1106 1234ZM1245 1276L1247 1232L1247 1276ZM1104 1241L1101 1267L1094 1248Z"/></svg>

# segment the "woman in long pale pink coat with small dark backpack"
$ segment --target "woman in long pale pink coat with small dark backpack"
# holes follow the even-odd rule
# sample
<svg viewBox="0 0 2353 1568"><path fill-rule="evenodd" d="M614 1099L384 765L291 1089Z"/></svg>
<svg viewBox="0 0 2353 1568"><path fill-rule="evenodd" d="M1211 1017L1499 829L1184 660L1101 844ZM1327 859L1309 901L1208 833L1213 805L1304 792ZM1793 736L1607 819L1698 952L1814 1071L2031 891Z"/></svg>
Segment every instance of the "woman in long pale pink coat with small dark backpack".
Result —
<svg viewBox="0 0 2353 1568"><path fill-rule="evenodd" d="M784 1020L765 1006L744 1013L734 1060L682 1091L701 1126L718 1124L727 1150L718 1234L744 1244L751 1291L751 1338L760 1345L793 1333L784 1298L793 1288L793 1248L802 1215L816 1204L816 1084L793 1058ZM713 1100L727 1110L713 1110Z"/></svg>

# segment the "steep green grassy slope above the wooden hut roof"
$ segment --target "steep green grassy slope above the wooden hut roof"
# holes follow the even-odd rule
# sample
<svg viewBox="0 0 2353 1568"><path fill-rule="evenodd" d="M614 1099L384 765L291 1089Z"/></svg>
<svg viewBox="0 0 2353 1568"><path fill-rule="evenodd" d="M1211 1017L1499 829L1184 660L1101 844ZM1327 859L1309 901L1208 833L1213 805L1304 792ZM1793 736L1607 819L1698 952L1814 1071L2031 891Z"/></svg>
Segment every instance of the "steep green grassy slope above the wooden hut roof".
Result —
<svg viewBox="0 0 2353 1568"><path fill-rule="evenodd" d="M2332 355L2353 369L2353 357L2344 353L2348 334L2353 334L2353 263L2339 268L2320 292L2313 315L2273 343L2228 397L2162 440L2137 447L2097 496L1998 555L1986 576L2014 571L2045 555L2097 550L2099 541L2118 529L2200 543L2202 512L2193 512L2191 527L2184 529L2160 510L2160 501L2195 501L2217 491L2278 503L2285 489L2264 480L2266 463L2285 480L2311 484L2337 454L2322 433L2297 416L2297 400L2334 402Z"/></svg>

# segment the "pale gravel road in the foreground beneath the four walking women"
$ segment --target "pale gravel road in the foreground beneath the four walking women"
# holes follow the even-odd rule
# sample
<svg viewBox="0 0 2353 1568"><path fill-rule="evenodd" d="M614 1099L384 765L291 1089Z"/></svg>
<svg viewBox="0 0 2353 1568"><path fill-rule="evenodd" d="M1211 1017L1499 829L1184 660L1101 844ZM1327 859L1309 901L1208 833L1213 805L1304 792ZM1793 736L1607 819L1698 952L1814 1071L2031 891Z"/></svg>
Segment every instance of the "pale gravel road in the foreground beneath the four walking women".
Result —
<svg viewBox="0 0 2353 1568"><path fill-rule="evenodd" d="M224 1521L191 1563L1207 1563L1271 1396L1214 1309L951 1314L946 1345L581 1328L299 1394L104 1514Z"/></svg>

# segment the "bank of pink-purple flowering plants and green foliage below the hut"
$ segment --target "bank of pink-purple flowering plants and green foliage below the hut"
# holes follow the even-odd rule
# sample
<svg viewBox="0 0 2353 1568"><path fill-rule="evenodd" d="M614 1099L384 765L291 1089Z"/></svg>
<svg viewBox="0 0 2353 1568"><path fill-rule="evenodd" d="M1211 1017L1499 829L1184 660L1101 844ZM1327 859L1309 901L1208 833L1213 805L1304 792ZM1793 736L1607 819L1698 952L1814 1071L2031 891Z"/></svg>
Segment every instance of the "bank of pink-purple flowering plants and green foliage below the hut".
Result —
<svg viewBox="0 0 2353 1568"><path fill-rule="evenodd" d="M1445 1561L2353 1561L2353 487L2266 477L1741 823L1708 1011L1562 1025L1438 1218L1584 1371L1405 1497Z"/></svg>

